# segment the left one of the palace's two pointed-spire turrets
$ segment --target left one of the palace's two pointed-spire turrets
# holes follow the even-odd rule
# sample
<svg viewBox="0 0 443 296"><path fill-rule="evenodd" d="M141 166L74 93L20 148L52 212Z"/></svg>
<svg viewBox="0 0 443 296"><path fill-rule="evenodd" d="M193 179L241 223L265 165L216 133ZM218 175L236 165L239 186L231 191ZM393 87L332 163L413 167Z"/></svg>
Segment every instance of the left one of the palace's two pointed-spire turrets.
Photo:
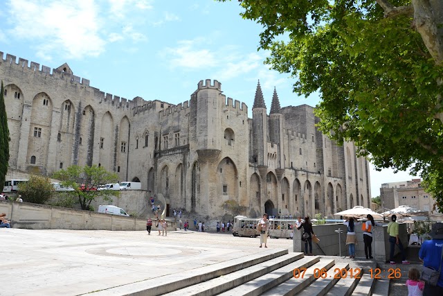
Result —
<svg viewBox="0 0 443 296"><path fill-rule="evenodd" d="M257 83L255 90L254 105L252 108L253 119L253 162L258 166L266 165L267 155L267 139L266 139L266 105L264 105L264 98L262 87L260 87L260 80Z"/></svg>

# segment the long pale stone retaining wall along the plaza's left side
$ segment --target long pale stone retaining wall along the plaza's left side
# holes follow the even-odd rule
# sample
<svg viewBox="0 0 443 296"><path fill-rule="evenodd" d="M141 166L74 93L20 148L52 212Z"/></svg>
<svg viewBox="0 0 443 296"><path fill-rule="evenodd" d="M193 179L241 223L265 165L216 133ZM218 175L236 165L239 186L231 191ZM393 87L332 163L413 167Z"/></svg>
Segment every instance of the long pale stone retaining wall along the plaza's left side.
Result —
<svg viewBox="0 0 443 296"><path fill-rule="evenodd" d="M6 213L13 228L75 230L146 230L146 220L101 214L93 211L51 207L28 202L0 201L0 213ZM168 229L175 230L172 220ZM156 229L153 223L152 229Z"/></svg>

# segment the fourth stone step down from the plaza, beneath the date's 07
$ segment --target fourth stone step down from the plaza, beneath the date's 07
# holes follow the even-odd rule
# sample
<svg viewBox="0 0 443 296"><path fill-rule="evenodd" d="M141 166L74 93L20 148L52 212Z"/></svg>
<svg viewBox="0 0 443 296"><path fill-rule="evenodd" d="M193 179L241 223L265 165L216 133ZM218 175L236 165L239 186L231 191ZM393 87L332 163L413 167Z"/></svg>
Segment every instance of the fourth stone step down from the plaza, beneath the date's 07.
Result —
<svg viewBox="0 0 443 296"><path fill-rule="evenodd" d="M296 295L300 293L304 288L309 286L312 281L315 280L314 270L317 268L321 270L322 268L326 268L329 270L334 265L334 260L325 260L321 259L318 263L312 265L310 268L307 268L304 275L300 275L300 277L291 277L284 283L271 288L266 291L262 295L266 296L286 296L286 295Z"/></svg>

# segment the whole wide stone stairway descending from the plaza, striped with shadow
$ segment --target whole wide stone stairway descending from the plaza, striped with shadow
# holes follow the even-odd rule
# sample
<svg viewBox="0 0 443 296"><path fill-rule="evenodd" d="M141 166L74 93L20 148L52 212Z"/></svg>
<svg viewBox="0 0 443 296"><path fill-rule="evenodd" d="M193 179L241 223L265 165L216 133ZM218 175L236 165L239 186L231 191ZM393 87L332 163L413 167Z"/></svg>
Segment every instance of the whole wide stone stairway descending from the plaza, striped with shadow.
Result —
<svg viewBox="0 0 443 296"><path fill-rule="evenodd" d="M388 295L389 282L376 287L369 268L356 276L356 267L334 257L269 249L92 295Z"/></svg>

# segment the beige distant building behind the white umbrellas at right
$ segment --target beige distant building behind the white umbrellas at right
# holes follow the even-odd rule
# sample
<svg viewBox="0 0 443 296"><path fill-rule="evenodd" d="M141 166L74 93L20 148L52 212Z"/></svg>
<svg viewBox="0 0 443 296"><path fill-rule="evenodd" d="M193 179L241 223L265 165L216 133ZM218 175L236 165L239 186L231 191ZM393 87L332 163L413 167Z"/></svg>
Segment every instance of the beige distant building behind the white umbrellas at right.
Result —
<svg viewBox="0 0 443 296"><path fill-rule="evenodd" d="M404 182L383 183L380 188L381 207L395 209L401 205L407 205L429 214L433 211L435 200L432 195L426 193L422 187L422 179L413 179Z"/></svg>

